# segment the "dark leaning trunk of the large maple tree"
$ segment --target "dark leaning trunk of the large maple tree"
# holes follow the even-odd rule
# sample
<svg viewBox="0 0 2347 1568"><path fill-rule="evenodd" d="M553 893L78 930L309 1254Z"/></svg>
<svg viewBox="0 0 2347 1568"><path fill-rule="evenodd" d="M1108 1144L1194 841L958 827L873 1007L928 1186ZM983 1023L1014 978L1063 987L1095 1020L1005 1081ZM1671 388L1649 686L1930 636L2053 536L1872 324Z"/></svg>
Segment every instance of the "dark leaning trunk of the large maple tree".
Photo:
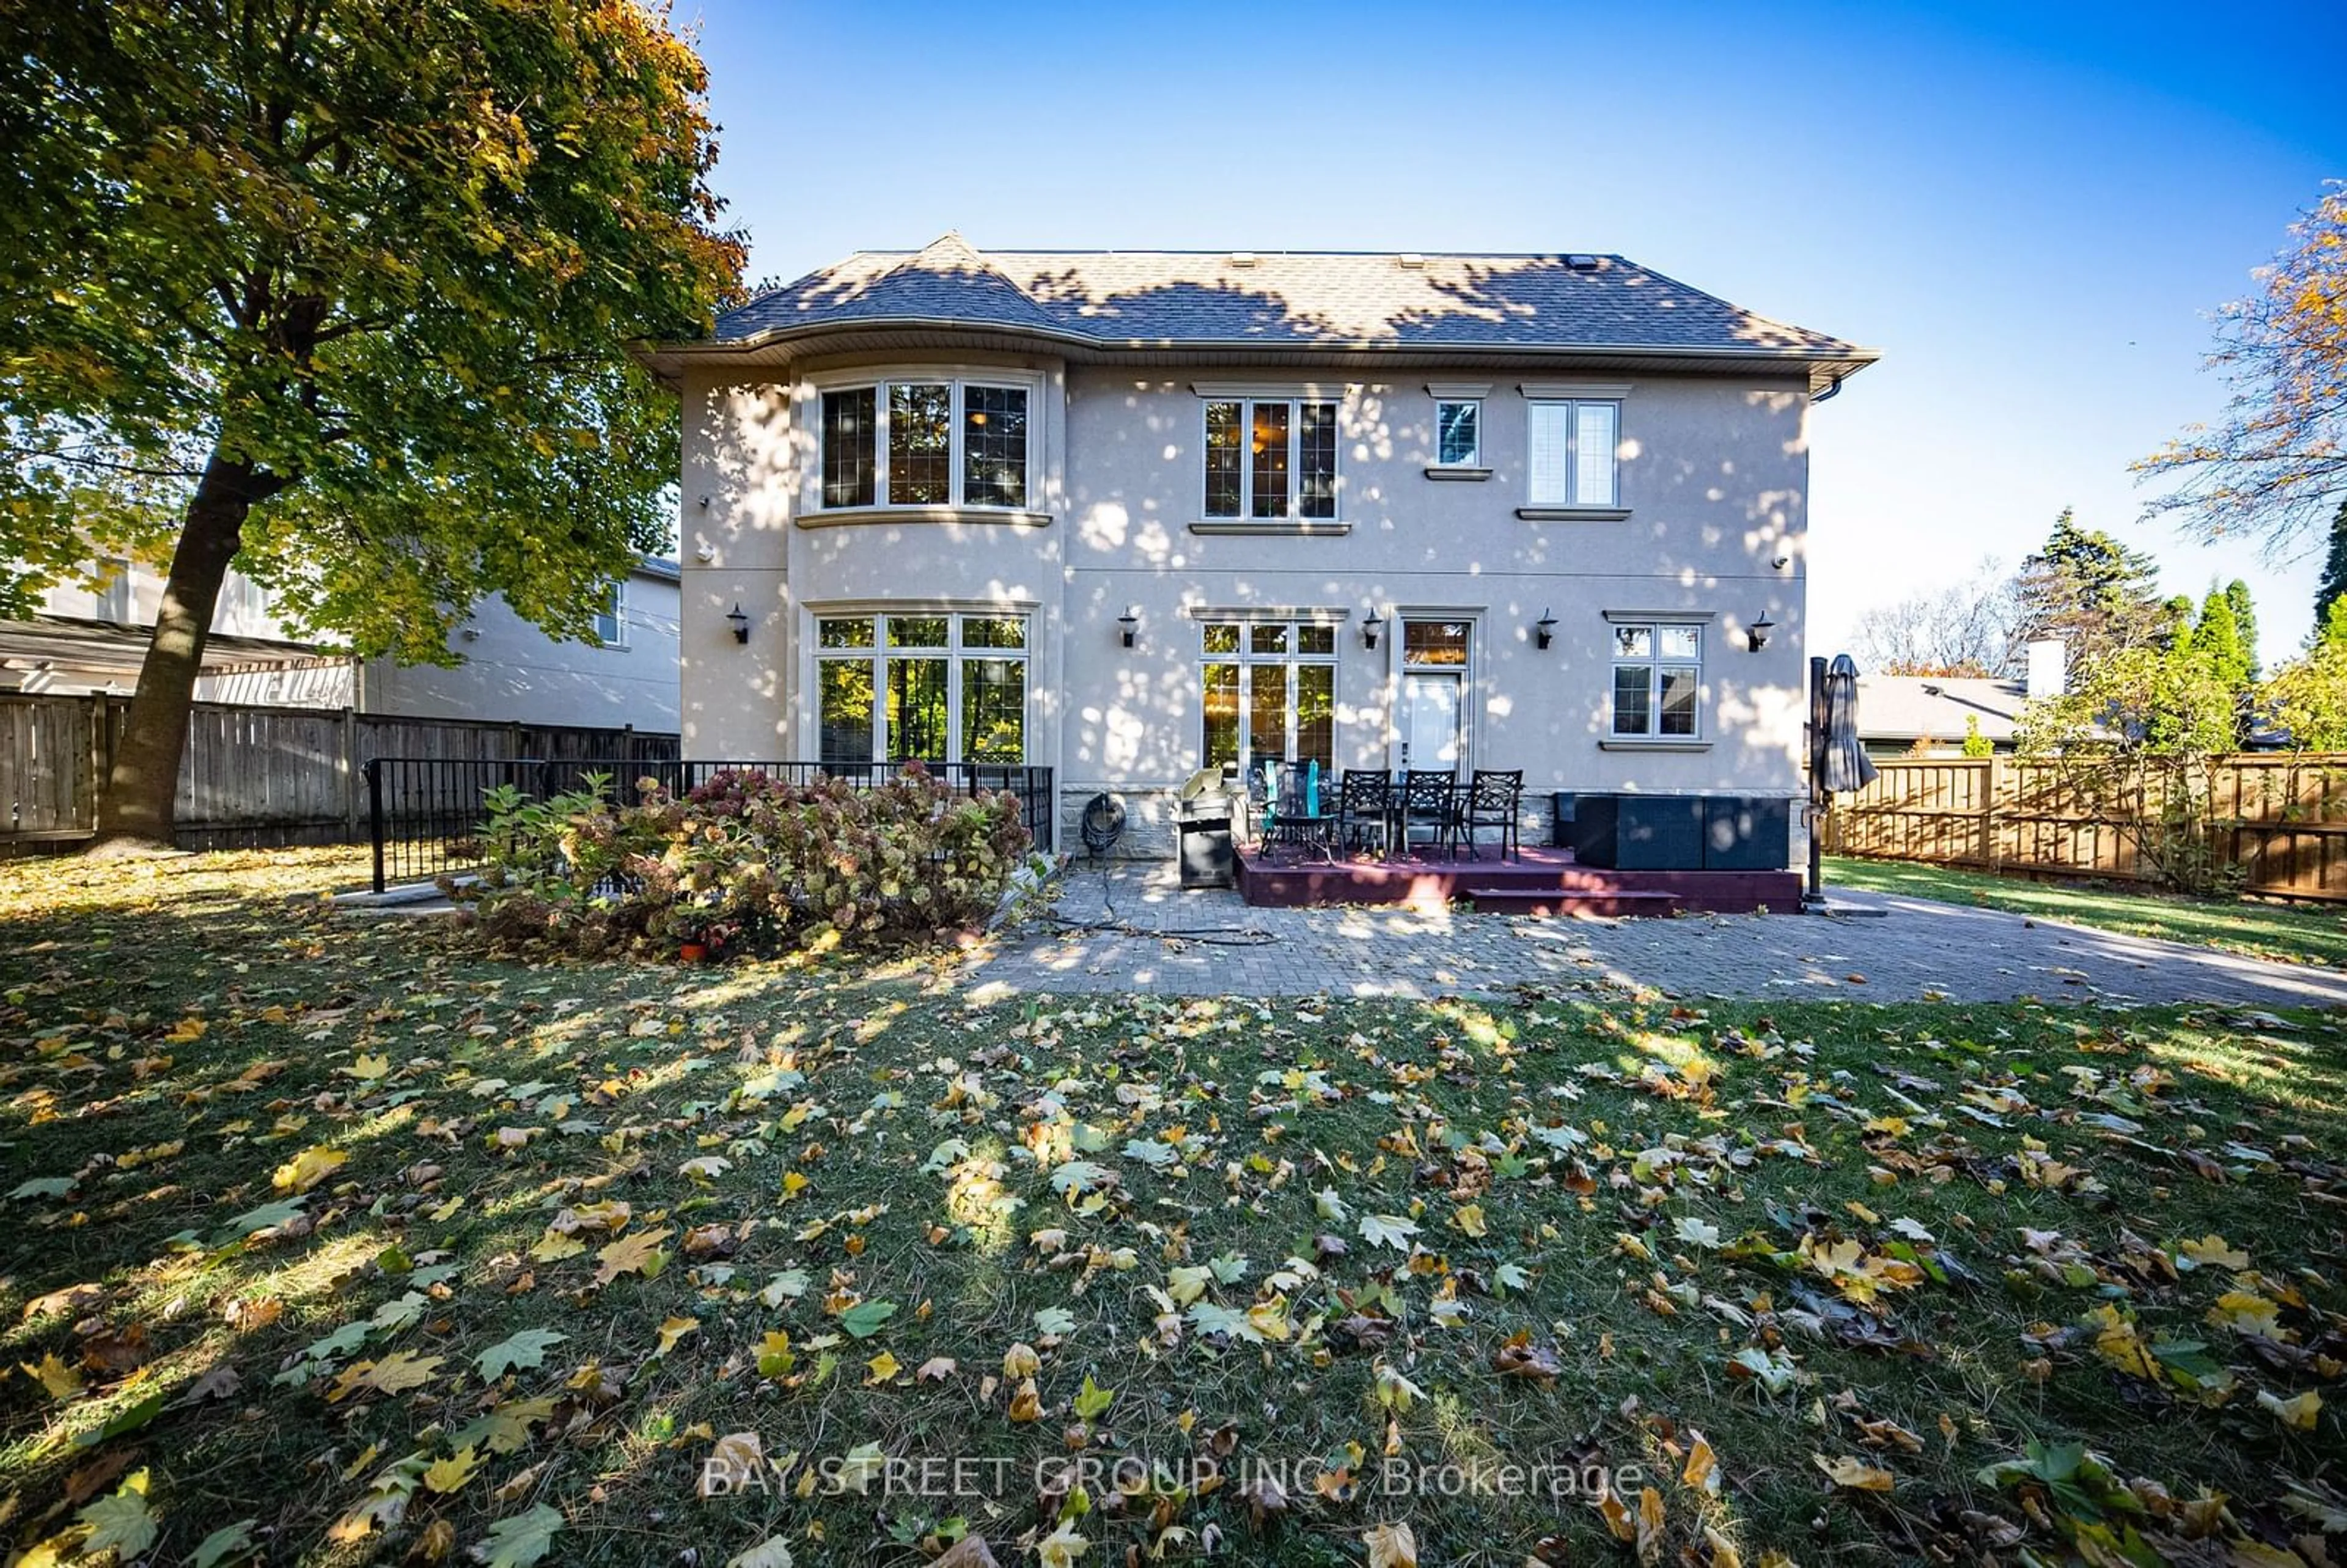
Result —
<svg viewBox="0 0 2347 1568"><path fill-rule="evenodd" d="M211 610L244 538L244 514L279 484L251 465L223 458L204 462L204 477L188 498L171 575L155 610L155 636L138 667L138 690L115 746L106 796L99 800L103 850L169 850L171 810L178 798L178 761L188 749L188 709L204 667Z"/></svg>

